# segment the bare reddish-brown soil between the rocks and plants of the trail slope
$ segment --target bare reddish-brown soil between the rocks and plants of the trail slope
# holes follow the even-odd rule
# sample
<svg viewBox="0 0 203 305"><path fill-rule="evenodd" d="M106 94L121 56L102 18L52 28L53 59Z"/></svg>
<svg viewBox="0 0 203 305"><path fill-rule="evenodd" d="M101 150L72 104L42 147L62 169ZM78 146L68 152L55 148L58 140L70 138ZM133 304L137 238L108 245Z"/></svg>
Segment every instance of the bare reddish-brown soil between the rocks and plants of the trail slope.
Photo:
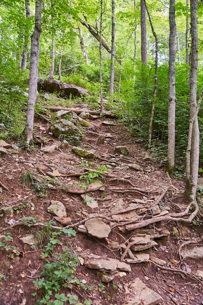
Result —
<svg viewBox="0 0 203 305"><path fill-rule="evenodd" d="M75 155L71 148L66 152L57 150L53 154L44 154L37 146L30 147L29 150L20 148L18 153L14 151L8 152L5 158L0 159L0 181L9 190L8 192L3 189L0 193L0 234L3 242L5 242L3 239L5 232L2 229L8 228L23 216L36 217L40 223L52 221L53 215L47 212L51 200L61 201L65 205L67 215L72 218L72 223L74 224L79 220L81 211L83 211L83 217L87 217L87 215L92 213L106 214L108 217L114 208L111 203L118 202L122 198L124 209L135 198L144 199L150 203L149 200L157 200L164 190L172 185L159 202L159 206L161 208L164 206L169 207L170 212L173 213L185 210L188 203L185 201L184 196L181 195L185 188L184 181L173 178L169 181L162 162L143 161L145 148L136 142L136 139L131 137L124 127L120 126L115 120L114 123L116 125L103 125L102 120L97 119L92 121L93 128L87 130L85 138L80 144L83 148L94 148L96 155L100 157L90 160L94 162L94 165L90 167L95 169L95 166L109 164L111 165L111 174L117 177L116 179L105 176L99 179L104 183L105 190L89 194L99 200L99 207L97 209L91 210L87 207L82 202L80 195L70 194L59 188L64 184L69 185L70 188L73 187L75 183L78 183L79 176L68 175L74 172L84 172L83 167L75 167L81 164L81 158ZM35 134L39 138L46 137L43 146L53 144L59 146L60 141L48 133L49 126L47 122L39 120L35 122L35 126L37 129ZM104 144L97 146L96 140L98 134L107 133L111 133L111 137L106 138ZM15 143L19 144L18 142ZM119 158L119 156L114 154L114 147L119 145L126 145L128 147L128 156ZM107 162L105 159L107 159L108 153L112 154L112 156ZM47 197L40 197L39 191L33 192L30 187L22 183L22 173L28 171L35 172L38 180L41 181L44 175L43 171L37 171L37 163L48 167L50 172L58 168L63 168L66 171L66 174L56 178L59 186L55 186L55 190L48 190ZM130 169L121 171L118 169L118 167L124 167L128 163L136 163L144 171L135 172ZM128 181L119 180L119 178L123 178L127 174L129 175L127 179L134 187ZM140 191L125 192L129 188L131 190L133 188L134 190L140 189ZM115 190L112 191L112 189ZM5 207L12 207L12 209L10 211L5 210ZM148 217L151 217L150 212ZM58 223L57 226L59 226ZM203 226L194 226L194 224L185 226L178 222L159 222L151 224L147 228L156 229L157 227L170 231L169 240L158 240L158 246L144 250L144 252L164 259L167 265L163 268L157 267L151 262L131 264L131 272L126 272L124 276L118 273L113 281L108 284L103 283L105 288L103 291L99 291L101 290L99 289L101 282L98 278L98 271L88 269L85 265L78 265L74 273L75 277L85 280L86 286L93 285L95 288L90 292L88 289L84 290L74 284L72 289L63 289L61 287L60 293L64 292L66 296L71 294L77 295L82 303L84 303L84 300L91 300L93 305L121 305L131 296L131 281L139 277L148 287L162 296L164 300L162 305L203 304L201 280L198 277L192 276L196 274L198 269L203 270L202 260L195 261L190 259L180 262L178 254L178 248L182 243L202 236ZM177 230L174 231L173 228ZM6 250L0 247L0 274L4 277L0 280L0 305L34 305L40 296L33 281L40 277L40 273L43 270L45 261L41 259L40 253L44 251L44 248L37 246L33 248L30 245L23 244L19 239L28 233L35 233L36 231L37 227L23 225L14 226L13 229L6 230L13 237L13 241L6 242L6 245L16 246L18 249L11 248ZM121 224L111 229L108 241L121 243L118 233L128 240L134 234L134 231L125 230L125 225ZM66 236L62 236L60 239L61 243L55 249L58 253L61 252L62 248L69 246L69 242L72 241L72 250L85 261L87 261L87 257L90 254L98 255L101 258L121 258L121 249L112 250L108 247L107 240L99 240L87 233L77 232L75 237L68 239ZM174 271L167 270L168 267L174 269ZM185 274L179 272L181 270L184 270ZM33 296L34 292L37 292L36 296ZM66 302L64 304L69 303Z"/></svg>

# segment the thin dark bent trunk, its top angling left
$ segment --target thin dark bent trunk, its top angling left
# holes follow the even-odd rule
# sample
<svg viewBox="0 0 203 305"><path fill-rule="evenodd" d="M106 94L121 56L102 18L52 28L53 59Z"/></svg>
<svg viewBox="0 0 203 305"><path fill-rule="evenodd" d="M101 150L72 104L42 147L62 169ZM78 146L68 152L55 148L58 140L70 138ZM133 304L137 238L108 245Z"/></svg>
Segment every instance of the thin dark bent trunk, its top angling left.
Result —
<svg viewBox="0 0 203 305"><path fill-rule="evenodd" d="M151 136L152 136L152 123L153 123L153 118L154 118L154 110L155 110L155 101L156 101L156 93L157 93L157 83L158 83L158 78L157 78L157 70L158 70L158 38L157 35L154 31L154 27L151 21L151 17L148 11L148 7L147 7L147 3L146 0L144 0L145 2L145 7L148 13L148 19L149 19L149 23L151 26L151 30L153 33L153 36L155 38L155 71L154 71L154 94L153 94L153 100L152 100L152 107L151 107L151 116L150 116L150 120L149 120L149 128L148 128L148 149L150 149L151 147Z"/></svg>

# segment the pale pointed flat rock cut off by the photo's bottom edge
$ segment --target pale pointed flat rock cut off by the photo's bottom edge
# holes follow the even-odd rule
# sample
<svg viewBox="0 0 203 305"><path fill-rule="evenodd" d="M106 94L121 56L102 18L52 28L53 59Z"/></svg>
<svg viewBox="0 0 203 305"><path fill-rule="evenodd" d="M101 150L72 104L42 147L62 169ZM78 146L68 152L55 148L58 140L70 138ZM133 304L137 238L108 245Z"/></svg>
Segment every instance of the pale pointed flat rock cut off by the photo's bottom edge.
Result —
<svg viewBox="0 0 203 305"><path fill-rule="evenodd" d="M148 288L139 278L132 282L130 288L133 289L135 296L123 305L157 305L163 302L162 297Z"/></svg>

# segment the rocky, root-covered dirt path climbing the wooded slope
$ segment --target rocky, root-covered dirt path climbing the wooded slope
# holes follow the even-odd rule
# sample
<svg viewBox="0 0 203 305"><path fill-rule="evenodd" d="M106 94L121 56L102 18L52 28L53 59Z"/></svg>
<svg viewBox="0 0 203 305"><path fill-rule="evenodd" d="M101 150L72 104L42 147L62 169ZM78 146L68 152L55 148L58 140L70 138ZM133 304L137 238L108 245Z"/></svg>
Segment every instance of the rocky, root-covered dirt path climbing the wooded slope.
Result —
<svg viewBox="0 0 203 305"><path fill-rule="evenodd" d="M168 215L179 213L185 217L188 213L184 214L187 202L181 195L184 182L169 178L160 160L146 159L144 146L115 119L87 120L92 128L86 128L79 146L91 150L92 159L81 158L70 145L61 146L43 119L35 122L35 136L39 143L43 142L42 150L55 145L52 153L33 146L28 151L8 150L0 159L0 181L9 190L2 189L0 194L0 227L7 228L13 238L5 242L5 233L1 231L4 245L11 248L1 244L0 305L34 305L39 297L35 296L33 280L43 270L40 253L44 248L24 243L20 238L42 229L36 221L46 224L54 220L48 212L51 201L60 201L66 212L57 219L55 227L77 230L71 239L71 249L80 257L75 277L86 287L84 290L74 285L72 290L62 288L60 293L68 297L74 294L82 304L84 300L91 300L93 305L135 304L136 294L140 293L136 292L139 278L152 289L148 292L150 297L156 292L157 301L140 295L140 303L136 304L202 304L202 285L197 276L202 259L181 262L178 253L181 244L202 235L202 226L167 221ZM102 143L98 143L98 138ZM27 172L33 172L36 178L32 186L22 182L26 176L23 173ZM83 179L79 180L81 175ZM103 187L98 182L90 187L95 180ZM78 185L81 182L83 185ZM84 195L87 189L90 198L84 201L81 193ZM28 228L22 222L34 223ZM134 225L142 223L134 229ZM66 236L60 238L55 248L58 255L70 240ZM14 245L17 248L12 248ZM123 261L120 267L118 260Z"/></svg>

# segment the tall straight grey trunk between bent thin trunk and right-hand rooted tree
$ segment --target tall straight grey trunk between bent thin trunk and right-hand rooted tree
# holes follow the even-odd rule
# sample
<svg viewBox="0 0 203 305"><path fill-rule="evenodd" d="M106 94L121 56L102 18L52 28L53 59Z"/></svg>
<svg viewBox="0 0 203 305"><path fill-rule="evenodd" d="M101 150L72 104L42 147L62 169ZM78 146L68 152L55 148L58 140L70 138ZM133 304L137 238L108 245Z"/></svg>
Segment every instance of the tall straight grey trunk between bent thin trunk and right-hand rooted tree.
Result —
<svg viewBox="0 0 203 305"><path fill-rule="evenodd" d="M167 152L167 171L172 173L175 164L175 38L176 38L176 21L175 21L175 0L170 0L169 5L169 71L168 71L168 152Z"/></svg>

